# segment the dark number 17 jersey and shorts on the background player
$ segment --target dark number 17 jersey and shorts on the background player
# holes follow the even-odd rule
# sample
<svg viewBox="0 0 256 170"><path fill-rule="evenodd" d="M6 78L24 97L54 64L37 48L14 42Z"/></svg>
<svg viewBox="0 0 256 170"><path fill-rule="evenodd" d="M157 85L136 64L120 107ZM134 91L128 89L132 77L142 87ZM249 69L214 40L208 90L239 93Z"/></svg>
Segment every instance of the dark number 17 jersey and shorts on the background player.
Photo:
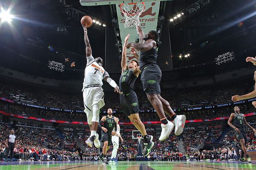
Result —
<svg viewBox="0 0 256 170"><path fill-rule="evenodd" d="M111 133L113 131L113 129L115 128L115 119L114 116L112 116L112 118L109 118L106 115L106 120L103 122L103 127L105 127L108 131L104 132L103 130L101 130L101 141L104 143L105 141L108 141L108 146L110 146L111 144ZM100 122L99 122L100 124Z"/></svg>

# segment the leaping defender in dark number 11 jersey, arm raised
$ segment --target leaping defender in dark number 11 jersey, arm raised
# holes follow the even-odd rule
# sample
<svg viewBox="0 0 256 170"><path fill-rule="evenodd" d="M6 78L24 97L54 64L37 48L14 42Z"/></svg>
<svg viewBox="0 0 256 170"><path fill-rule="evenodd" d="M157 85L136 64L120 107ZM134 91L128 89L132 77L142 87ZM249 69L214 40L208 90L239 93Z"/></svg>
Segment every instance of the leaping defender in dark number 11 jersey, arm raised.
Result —
<svg viewBox="0 0 256 170"><path fill-rule="evenodd" d="M136 50L134 48L131 49L130 54L134 55L134 57L137 60L131 60L128 66L126 64L126 53L127 53L126 45L128 43L129 36L130 34L128 34L125 37L125 43L124 43L123 52L122 52L122 62L121 62L122 76L120 77L120 80L119 80L120 90L122 92L122 94L120 94L120 103L125 115L128 116L128 118L137 128L137 130L139 130L140 133L142 134L144 139L144 145L145 145L143 155L147 156L149 155L152 147L154 146L154 143L152 142L153 136L147 135L145 126L140 121L140 117L139 117L140 109L138 104L138 98L136 93L134 92L133 86L136 79L139 76L140 67L137 61L139 59L139 56L137 55Z"/></svg>

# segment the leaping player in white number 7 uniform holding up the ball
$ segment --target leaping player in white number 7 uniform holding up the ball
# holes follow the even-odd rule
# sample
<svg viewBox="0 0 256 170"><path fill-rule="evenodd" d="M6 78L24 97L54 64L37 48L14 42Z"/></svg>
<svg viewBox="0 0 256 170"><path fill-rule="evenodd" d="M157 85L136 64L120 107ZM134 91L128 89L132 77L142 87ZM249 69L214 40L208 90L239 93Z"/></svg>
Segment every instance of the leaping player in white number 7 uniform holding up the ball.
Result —
<svg viewBox="0 0 256 170"><path fill-rule="evenodd" d="M89 124L91 135L86 140L86 144L90 147L94 145L99 148L100 141L99 135L96 133L97 127L99 124L99 115L100 108L102 108L104 103L104 92L101 86L103 85L102 80L104 79L109 83L113 88L115 88L115 92L121 94L118 85L114 80L109 77L109 73L107 73L103 65L103 59L98 57L95 58L91 53L91 46L87 36L87 28L86 25L83 25L84 28L84 43L86 45L86 58L87 64L84 71L84 83L83 83L83 98L84 98L84 112L87 115L87 122Z"/></svg>

